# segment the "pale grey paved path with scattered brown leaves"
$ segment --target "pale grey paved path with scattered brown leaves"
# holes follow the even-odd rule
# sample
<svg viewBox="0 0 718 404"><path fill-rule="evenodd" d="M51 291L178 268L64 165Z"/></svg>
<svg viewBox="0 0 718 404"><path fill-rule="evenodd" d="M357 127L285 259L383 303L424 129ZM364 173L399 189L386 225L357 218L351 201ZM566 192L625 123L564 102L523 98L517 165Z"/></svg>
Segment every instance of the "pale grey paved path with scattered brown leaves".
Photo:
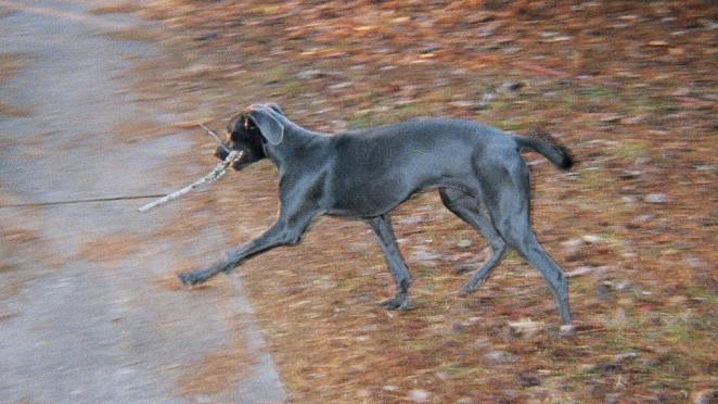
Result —
<svg viewBox="0 0 718 404"><path fill-rule="evenodd" d="M142 23L92 15L92 5L0 0L0 53L22 60L0 83L0 101L27 111L0 115L0 202L166 189L157 168L192 146L182 132L115 138L123 122L174 117L159 105L140 108L124 74L162 50L102 35ZM0 402L285 401L238 278L230 293L162 287L185 253L179 245L113 249L116 235L142 240L182 214L180 204L152 215L137 205L0 209ZM93 260L88 245L113 255ZM255 357L243 377L187 389L193 373L211 376L202 367L221 366L236 350Z"/></svg>

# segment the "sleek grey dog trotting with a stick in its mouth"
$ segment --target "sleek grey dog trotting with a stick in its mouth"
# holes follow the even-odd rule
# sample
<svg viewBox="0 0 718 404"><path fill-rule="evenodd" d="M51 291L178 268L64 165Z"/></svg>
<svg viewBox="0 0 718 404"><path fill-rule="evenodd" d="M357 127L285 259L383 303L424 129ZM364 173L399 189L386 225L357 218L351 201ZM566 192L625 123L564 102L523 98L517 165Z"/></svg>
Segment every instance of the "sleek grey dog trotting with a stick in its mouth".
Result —
<svg viewBox="0 0 718 404"><path fill-rule="evenodd" d="M529 172L521 151L530 149L567 169L567 149L549 136L525 137L471 121L418 118L335 136L304 129L275 104L254 104L229 123L227 149L242 151L234 169L269 157L279 169L279 219L259 238L210 267L180 275L204 282L269 249L296 244L322 214L363 219L377 236L397 285L382 303L408 310L411 276L397 247L389 212L418 191L438 188L441 201L488 240L492 255L463 287L475 292L507 252L518 251L555 296L564 324L572 323L568 281L539 244L529 223ZM227 156L217 149L219 159Z"/></svg>

